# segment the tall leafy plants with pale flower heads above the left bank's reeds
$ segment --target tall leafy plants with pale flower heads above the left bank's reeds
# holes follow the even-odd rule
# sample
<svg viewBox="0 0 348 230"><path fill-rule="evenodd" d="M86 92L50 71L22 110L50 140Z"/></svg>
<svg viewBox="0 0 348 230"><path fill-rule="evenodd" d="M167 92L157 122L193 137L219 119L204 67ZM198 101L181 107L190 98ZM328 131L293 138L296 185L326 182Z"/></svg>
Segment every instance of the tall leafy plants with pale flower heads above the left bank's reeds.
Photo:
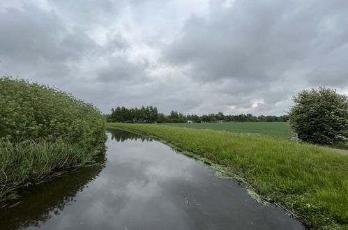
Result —
<svg viewBox="0 0 348 230"><path fill-rule="evenodd" d="M45 85L0 78L0 139L63 138L93 148L105 141L105 118L93 105Z"/></svg>

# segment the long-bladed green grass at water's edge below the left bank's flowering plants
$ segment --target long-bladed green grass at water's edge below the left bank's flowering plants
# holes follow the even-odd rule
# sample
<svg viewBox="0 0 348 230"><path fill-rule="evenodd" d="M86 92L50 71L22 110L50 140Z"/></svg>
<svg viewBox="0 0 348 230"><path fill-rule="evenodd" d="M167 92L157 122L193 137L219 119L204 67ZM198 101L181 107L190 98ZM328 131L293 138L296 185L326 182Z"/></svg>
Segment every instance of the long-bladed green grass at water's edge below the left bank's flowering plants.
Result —
<svg viewBox="0 0 348 230"><path fill-rule="evenodd" d="M0 141L0 204L16 198L20 187L59 176L69 167L90 164L96 152L63 139Z"/></svg>

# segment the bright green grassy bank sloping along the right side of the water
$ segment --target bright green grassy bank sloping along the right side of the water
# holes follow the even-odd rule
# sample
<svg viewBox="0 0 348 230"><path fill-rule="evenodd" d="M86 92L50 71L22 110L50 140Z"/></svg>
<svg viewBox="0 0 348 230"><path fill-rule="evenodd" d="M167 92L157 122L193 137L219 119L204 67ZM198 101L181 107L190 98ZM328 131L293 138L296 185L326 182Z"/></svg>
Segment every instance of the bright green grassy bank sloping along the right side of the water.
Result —
<svg viewBox="0 0 348 230"><path fill-rule="evenodd" d="M282 139L166 125L109 123L153 135L227 167L307 227L348 228L348 157Z"/></svg>

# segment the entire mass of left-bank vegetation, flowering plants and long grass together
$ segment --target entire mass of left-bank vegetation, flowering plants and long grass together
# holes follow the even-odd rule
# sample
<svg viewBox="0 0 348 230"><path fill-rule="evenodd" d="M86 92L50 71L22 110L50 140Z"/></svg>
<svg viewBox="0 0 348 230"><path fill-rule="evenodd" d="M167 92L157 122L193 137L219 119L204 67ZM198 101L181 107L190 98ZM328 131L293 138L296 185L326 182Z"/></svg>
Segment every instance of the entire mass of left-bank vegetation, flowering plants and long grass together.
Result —
<svg viewBox="0 0 348 230"><path fill-rule="evenodd" d="M20 187L91 163L105 139L105 117L93 105L48 86L0 78L0 203Z"/></svg>

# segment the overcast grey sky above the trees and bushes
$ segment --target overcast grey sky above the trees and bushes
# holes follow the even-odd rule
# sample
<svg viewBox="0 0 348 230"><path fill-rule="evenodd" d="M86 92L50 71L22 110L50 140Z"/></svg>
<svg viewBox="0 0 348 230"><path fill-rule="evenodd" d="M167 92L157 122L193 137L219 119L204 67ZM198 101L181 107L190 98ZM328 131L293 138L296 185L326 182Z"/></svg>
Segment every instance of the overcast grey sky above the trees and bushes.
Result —
<svg viewBox="0 0 348 230"><path fill-rule="evenodd" d="M112 107L282 115L348 95L347 0L0 0L0 75Z"/></svg>

